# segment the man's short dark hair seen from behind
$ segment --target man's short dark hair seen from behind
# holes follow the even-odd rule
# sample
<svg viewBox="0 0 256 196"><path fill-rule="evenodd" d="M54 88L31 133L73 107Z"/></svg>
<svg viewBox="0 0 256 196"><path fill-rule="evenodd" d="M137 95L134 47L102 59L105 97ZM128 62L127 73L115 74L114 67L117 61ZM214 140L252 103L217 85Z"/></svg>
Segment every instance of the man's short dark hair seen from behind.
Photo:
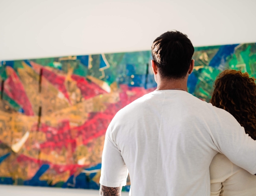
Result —
<svg viewBox="0 0 256 196"><path fill-rule="evenodd" d="M152 58L160 76L168 79L180 79L186 76L194 51L187 35L179 31L167 31L152 44Z"/></svg>

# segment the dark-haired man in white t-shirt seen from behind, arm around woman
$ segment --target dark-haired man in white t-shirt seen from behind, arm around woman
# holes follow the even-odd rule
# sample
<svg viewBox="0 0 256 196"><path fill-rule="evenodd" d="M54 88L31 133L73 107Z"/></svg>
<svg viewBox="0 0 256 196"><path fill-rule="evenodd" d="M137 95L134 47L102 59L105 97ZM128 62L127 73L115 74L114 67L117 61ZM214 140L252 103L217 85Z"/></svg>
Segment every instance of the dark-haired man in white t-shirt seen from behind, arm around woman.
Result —
<svg viewBox="0 0 256 196"><path fill-rule="evenodd" d="M121 109L109 124L102 155L101 196L208 196L217 152L256 173L256 141L236 119L187 93L194 47L171 31L152 45L156 91Z"/></svg>

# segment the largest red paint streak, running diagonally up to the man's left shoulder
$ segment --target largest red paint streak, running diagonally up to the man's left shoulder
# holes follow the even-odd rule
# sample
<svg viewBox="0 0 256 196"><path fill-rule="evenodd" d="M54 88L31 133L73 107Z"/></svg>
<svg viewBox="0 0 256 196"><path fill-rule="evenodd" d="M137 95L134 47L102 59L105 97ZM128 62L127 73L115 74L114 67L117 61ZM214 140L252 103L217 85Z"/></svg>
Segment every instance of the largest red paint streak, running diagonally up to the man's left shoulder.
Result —
<svg viewBox="0 0 256 196"><path fill-rule="evenodd" d="M89 119L81 126L73 128L75 136L82 136L82 142L87 145L92 139L100 137L106 133L109 123L115 116L115 114L124 106L133 102L140 96L151 92L154 89L144 89L143 87L132 87L129 89L126 85L121 85L122 92L120 93L121 101L115 104L108 104L107 109L104 112L91 113ZM126 92L130 91L128 95ZM48 125L41 125L39 131L46 133L46 142L41 143L40 147L50 148L52 150L62 147L68 147L68 144L72 145L72 152L76 149L75 139L71 137L71 131L69 127L69 121L65 120L58 124L58 127L49 127Z"/></svg>

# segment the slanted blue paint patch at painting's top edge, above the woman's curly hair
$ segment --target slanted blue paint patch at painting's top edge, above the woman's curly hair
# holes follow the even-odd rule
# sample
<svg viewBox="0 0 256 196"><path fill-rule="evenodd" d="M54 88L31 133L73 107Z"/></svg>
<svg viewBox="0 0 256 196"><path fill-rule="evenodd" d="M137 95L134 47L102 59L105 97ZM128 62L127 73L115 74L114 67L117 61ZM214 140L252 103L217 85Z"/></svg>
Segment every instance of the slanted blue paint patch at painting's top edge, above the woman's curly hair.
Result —
<svg viewBox="0 0 256 196"><path fill-rule="evenodd" d="M232 44L232 45L222 45L219 48L219 51L215 54L215 56L212 58L211 62L209 63L209 66L211 67L219 67L219 65L226 62L226 58L232 54L234 54L235 47L239 44Z"/></svg>

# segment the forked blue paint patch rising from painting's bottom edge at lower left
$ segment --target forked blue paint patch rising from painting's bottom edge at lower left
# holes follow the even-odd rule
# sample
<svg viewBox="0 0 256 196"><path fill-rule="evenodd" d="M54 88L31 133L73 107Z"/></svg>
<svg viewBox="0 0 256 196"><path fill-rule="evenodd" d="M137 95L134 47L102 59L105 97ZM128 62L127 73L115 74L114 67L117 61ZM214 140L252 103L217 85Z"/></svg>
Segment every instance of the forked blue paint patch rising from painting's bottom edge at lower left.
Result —
<svg viewBox="0 0 256 196"><path fill-rule="evenodd" d="M47 169L49 169L49 167L50 166L47 164L42 165L31 180L24 181L24 185L48 187L49 185L48 185L47 181L41 181L41 180L39 180L39 178L46 172Z"/></svg>

